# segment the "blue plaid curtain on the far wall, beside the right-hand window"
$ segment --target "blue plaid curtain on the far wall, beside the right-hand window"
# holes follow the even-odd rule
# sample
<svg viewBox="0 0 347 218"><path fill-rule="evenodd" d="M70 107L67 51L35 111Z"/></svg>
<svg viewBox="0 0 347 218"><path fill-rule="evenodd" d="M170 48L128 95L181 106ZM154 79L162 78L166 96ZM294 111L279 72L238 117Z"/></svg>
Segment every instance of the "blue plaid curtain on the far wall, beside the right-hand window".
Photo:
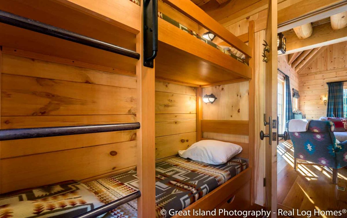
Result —
<svg viewBox="0 0 347 218"><path fill-rule="evenodd" d="M327 117L344 117L344 82L328 83Z"/></svg>

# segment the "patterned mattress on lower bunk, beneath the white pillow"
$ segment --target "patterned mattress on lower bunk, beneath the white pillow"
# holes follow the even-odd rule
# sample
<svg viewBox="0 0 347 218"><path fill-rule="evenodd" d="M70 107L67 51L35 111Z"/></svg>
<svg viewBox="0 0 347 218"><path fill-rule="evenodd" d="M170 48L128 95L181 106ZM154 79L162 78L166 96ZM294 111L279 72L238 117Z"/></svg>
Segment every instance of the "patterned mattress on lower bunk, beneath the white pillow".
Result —
<svg viewBox="0 0 347 218"><path fill-rule="evenodd" d="M155 165L156 217L160 211L183 210L247 168L245 159L232 158L222 165L174 157ZM86 183L103 202L109 203L138 190L135 170ZM137 217L137 200L121 205L105 218Z"/></svg>

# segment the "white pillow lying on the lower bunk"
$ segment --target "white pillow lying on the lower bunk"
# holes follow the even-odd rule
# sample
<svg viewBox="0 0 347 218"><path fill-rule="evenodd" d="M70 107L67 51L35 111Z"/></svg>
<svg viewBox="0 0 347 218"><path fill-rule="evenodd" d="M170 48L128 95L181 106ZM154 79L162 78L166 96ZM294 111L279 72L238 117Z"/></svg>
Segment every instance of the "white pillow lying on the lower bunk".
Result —
<svg viewBox="0 0 347 218"><path fill-rule="evenodd" d="M204 162L206 164L225 164L242 151L242 147L230 142L201 140L187 150L178 151L180 157Z"/></svg>

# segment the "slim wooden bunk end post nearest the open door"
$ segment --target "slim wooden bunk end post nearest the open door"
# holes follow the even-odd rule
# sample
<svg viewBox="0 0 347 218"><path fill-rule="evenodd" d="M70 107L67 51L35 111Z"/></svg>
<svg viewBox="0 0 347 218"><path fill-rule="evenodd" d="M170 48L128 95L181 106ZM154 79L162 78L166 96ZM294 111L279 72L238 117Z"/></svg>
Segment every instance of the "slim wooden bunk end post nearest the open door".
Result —
<svg viewBox="0 0 347 218"><path fill-rule="evenodd" d="M248 46L252 49L252 58L249 58L249 67L252 68L252 79L249 80L249 117L248 117L248 143L249 143L249 166L252 167L251 179L251 204L254 203L255 171L254 171L254 148L255 148L255 24L251 20L248 25Z"/></svg>

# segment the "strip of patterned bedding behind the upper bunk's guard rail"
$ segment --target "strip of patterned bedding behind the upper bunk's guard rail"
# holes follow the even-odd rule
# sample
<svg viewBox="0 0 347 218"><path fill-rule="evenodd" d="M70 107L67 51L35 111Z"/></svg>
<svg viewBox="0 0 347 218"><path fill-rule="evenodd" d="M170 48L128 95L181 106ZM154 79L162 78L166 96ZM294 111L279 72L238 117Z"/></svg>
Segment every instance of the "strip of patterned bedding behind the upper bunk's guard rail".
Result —
<svg viewBox="0 0 347 218"><path fill-rule="evenodd" d="M213 46L214 48L220 50L221 52L231 56L232 58L246 64L247 62L244 60L245 55L241 52L239 52L238 50L232 48L232 47L227 47L227 46L219 46L213 42L211 42L210 40L207 40L206 38L202 37L201 35L197 34L196 32L194 32L193 30L189 29L188 27L178 23L176 20L171 19L170 17L168 17L167 15L163 14L162 12L158 12L158 17L169 22L170 24L180 28L181 30L184 30L185 32L195 36L196 38L200 39L201 41L203 41L206 44L209 44L211 46ZM234 52L234 53L233 53Z"/></svg>

